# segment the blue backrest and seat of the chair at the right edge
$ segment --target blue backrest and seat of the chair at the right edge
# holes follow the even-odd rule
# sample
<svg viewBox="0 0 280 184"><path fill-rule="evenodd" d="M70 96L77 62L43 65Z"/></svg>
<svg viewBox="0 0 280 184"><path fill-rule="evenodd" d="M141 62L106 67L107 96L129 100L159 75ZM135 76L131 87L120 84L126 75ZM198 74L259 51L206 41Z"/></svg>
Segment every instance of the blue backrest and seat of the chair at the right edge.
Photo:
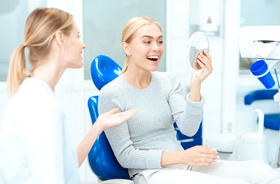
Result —
<svg viewBox="0 0 280 184"><path fill-rule="evenodd" d="M244 97L244 104L251 105L257 100L273 100L273 96L278 92L278 89L261 89L255 90ZM280 127L280 113L264 114L264 127L272 130L279 130Z"/></svg>

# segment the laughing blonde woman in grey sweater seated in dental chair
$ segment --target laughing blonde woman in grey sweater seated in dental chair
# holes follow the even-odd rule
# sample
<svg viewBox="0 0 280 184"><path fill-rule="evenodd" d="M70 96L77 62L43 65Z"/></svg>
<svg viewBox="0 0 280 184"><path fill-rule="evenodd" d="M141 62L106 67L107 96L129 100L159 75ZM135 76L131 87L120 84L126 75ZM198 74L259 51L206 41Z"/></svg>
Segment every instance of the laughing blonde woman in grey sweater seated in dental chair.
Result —
<svg viewBox="0 0 280 184"><path fill-rule="evenodd" d="M201 52L185 96L172 74L157 72L164 54L161 26L148 17L135 17L122 32L126 62L122 74L104 86L99 112L111 108L139 112L126 122L105 130L119 163L136 184L245 184L280 183L280 175L261 161L222 161L208 146L183 150L173 123L192 136L203 117L203 81L212 73L212 58ZM172 61L169 61L172 62Z"/></svg>

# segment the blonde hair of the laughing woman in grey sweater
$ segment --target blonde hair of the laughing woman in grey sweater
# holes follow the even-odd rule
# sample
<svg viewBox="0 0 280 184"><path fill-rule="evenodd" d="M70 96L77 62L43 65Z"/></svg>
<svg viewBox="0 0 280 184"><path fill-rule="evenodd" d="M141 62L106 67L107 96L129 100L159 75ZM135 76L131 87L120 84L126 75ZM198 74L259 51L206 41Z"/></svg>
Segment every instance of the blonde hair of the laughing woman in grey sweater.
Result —
<svg viewBox="0 0 280 184"><path fill-rule="evenodd" d="M148 24L155 24L156 26L159 27L160 31L162 31L160 23L153 20L152 18L134 17L134 18L130 19L123 28L122 40L121 40L122 43L123 42L130 43L131 40L133 39L134 33L141 27L148 25ZM126 72L127 67L128 67L128 60L126 58L123 69L122 69L122 73Z"/></svg>

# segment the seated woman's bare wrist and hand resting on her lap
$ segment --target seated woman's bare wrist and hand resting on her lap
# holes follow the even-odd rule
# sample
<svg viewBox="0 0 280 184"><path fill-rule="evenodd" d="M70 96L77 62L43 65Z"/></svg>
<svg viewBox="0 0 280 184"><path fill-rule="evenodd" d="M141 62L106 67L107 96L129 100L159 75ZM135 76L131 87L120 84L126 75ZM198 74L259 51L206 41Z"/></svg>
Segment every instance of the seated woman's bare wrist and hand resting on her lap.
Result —
<svg viewBox="0 0 280 184"><path fill-rule="evenodd" d="M218 159L216 150L209 146L194 146L182 151L163 152L161 166L186 164L190 166L209 166Z"/></svg>

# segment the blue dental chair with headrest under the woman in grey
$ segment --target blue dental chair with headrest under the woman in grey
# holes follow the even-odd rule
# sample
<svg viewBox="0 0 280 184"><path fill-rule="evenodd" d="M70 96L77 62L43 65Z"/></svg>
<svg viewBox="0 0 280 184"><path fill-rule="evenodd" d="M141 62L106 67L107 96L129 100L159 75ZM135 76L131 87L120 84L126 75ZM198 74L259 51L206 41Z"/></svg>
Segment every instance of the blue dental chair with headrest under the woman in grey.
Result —
<svg viewBox="0 0 280 184"><path fill-rule="evenodd" d="M121 73L121 67L110 57L99 55L95 57L91 64L91 77L97 89L101 89L108 82L114 80ZM98 96L88 99L88 108L92 123L98 117ZM202 144L202 123L198 132L193 137L183 135L176 123L174 128L177 131L177 139L184 149ZM110 144L104 132L102 132L88 154L89 165L94 174L102 183L128 184L132 183L128 175L128 170L123 168L114 156Z"/></svg>

